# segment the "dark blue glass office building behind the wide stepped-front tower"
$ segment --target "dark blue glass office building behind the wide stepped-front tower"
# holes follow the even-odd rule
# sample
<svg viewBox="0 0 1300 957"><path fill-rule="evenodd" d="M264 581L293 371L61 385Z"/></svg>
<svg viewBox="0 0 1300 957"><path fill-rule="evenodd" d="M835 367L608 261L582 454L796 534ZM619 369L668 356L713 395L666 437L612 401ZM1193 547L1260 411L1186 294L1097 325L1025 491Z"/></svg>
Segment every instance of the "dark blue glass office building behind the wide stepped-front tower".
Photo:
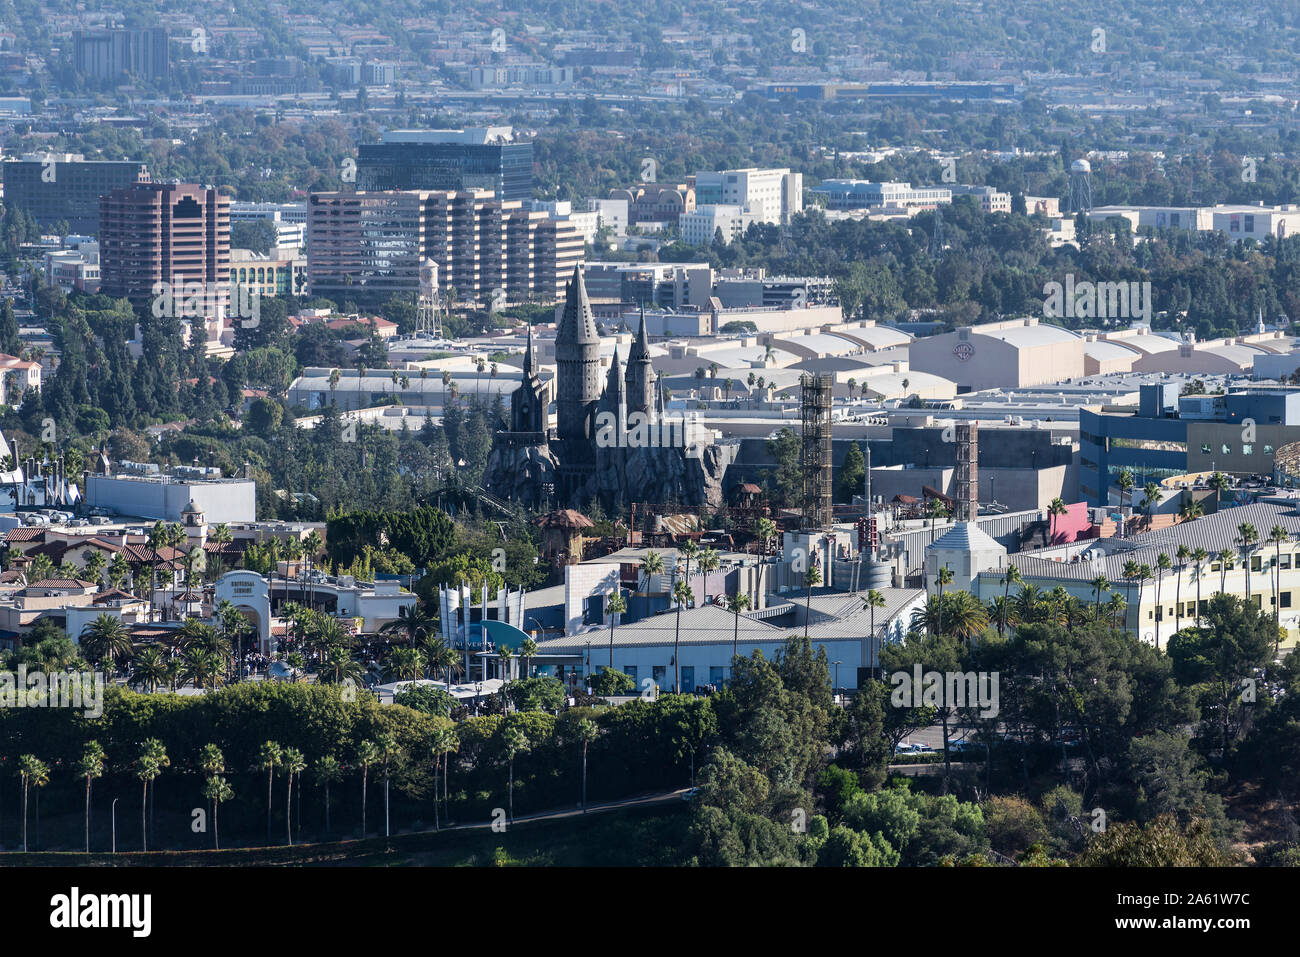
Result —
<svg viewBox="0 0 1300 957"><path fill-rule="evenodd" d="M356 189L491 190L497 199L533 198L533 144L510 126L389 130L358 151Z"/></svg>

